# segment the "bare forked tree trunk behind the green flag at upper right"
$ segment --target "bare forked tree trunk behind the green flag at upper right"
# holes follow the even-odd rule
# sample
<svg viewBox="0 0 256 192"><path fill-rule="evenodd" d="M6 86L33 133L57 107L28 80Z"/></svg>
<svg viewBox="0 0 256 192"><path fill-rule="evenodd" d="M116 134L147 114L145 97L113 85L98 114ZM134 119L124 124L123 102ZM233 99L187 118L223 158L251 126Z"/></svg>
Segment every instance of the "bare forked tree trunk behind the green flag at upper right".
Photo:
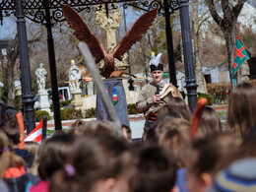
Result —
<svg viewBox="0 0 256 192"><path fill-rule="evenodd" d="M228 58L228 71L231 79L231 67L233 63L234 47L235 47L235 33L236 33L236 23L237 18L241 12L243 4L247 0L238 0L235 3L232 0L221 0L221 7L223 15L218 13L217 1L215 0L206 0L210 13L224 32L225 46L227 50Z"/></svg>

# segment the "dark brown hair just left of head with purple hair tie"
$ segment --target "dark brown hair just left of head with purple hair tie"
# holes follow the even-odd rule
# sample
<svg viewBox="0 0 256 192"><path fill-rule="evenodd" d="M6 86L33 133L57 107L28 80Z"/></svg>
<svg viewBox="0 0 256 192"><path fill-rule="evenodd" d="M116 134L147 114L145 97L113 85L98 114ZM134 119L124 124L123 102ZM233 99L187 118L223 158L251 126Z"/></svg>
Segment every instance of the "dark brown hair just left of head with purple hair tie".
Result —
<svg viewBox="0 0 256 192"><path fill-rule="evenodd" d="M68 160L72 152L74 138L69 135L56 135L45 140L38 151L38 173L41 179L49 180L53 173Z"/></svg>

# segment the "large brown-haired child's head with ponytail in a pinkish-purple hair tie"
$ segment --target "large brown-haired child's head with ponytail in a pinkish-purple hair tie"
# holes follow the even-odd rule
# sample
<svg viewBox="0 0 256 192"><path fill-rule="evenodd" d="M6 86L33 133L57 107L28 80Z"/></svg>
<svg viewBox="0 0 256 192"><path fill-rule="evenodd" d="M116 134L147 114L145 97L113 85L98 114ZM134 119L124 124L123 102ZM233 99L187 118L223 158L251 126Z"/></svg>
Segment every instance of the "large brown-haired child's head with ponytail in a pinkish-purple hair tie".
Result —
<svg viewBox="0 0 256 192"><path fill-rule="evenodd" d="M126 142L106 135L76 139L69 163L54 176L50 191L132 191L134 158Z"/></svg>

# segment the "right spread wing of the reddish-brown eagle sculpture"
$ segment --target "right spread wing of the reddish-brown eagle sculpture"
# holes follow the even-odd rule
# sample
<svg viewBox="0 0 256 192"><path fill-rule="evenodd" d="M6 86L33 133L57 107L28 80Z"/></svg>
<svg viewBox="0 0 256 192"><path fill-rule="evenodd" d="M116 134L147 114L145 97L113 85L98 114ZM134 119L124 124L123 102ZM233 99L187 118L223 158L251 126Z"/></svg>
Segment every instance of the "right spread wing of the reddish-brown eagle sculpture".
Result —
<svg viewBox="0 0 256 192"><path fill-rule="evenodd" d="M158 13L158 9L147 12L142 15L131 30L125 34L120 42L114 47L112 53L115 58L122 60L122 56L126 53L134 43L142 38L142 34L146 33L154 22Z"/></svg>

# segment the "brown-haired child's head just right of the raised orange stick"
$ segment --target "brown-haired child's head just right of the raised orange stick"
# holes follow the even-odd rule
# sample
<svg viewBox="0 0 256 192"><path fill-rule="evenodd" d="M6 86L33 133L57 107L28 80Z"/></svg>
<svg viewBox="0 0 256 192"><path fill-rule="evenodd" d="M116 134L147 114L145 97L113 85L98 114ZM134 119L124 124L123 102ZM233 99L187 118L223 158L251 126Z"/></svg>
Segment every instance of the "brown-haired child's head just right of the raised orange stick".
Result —
<svg viewBox="0 0 256 192"><path fill-rule="evenodd" d="M210 135L222 131L221 119L218 112L209 106L206 106L198 127L199 136Z"/></svg>

